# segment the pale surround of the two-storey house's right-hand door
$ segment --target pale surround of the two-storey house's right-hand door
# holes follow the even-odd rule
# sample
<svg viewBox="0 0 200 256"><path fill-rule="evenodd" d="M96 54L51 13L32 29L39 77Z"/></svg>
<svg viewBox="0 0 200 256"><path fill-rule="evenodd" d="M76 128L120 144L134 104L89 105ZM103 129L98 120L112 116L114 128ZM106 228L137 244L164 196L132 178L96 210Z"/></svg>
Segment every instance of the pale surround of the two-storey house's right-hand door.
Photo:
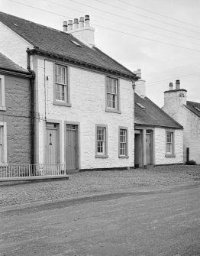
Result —
<svg viewBox="0 0 200 256"><path fill-rule="evenodd" d="M80 169L80 122L64 122L64 161L66 163L66 125L76 125L76 170Z"/></svg>

